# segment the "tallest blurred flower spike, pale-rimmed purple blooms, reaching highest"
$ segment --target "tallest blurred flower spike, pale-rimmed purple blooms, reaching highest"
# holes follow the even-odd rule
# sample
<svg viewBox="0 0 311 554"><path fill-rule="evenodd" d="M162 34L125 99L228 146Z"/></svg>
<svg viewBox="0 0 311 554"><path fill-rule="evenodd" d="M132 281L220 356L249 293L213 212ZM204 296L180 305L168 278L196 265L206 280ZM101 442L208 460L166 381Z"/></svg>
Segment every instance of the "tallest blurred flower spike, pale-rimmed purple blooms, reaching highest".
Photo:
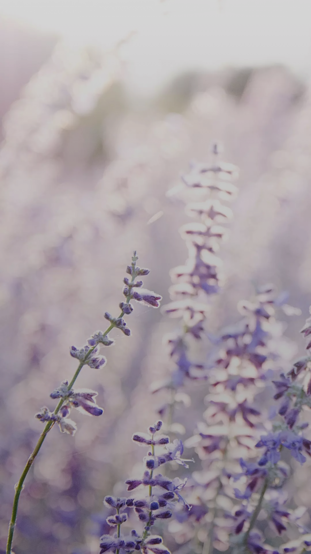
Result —
<svg viewBox="0 0 311 554"><path fill-rule="evenodd" d="M208 306L206 299L220 290L222 277L221 260L216 253L226 230L219 223L231 218L231 209L222 204L230 201L236 192L232 179L237 168L219 159L220 148L212 147L212 162L192 163L188 175L183 177L186 187L201 188L205 198L201 202L190 203L186 213L197 220L182 226L180 234L188 247L188 259L184 265L170 271L173 285L169 289L172 302L163 311L173 317L183 319L183 330L167 340L169 356L174 363L171 376L160 388L178 389L186 379L206 379L204 364L191 361L188 354L188 338L201 340L204 337L204 323ZM227 170L225 170L227 168ZM138 300L142 290L134 298Z"/></svg>

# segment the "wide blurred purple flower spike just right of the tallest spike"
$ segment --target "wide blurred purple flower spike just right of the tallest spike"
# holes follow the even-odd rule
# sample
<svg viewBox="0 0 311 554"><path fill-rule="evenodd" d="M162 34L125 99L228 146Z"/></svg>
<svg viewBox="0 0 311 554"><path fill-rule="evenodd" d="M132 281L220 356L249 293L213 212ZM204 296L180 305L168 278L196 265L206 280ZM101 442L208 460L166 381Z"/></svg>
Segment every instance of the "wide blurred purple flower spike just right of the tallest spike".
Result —
<svg viewBox="0 0 311 554"><path fill-rule="evenodd" d="M297 407L297 402L299 406L307 403L307 393L302 393L290 377L279 373L283 342L280 338L282 325L276 320L276 312L284 306L287 306L284 311L291 312L284 304L286 299L270 284L258 288L250 301L239 302L243 319L238 324L226 327L217 337L209 335L214 347L203 370L209 389L205 398L208 407L203 414L205 422L196 425L196 434L186 440L185 445L194 446L201 459L202 470L193 473L192 482L196 490L201 491L201 497L206 495L206 508L213 510L212 541L218 550L226 550L230 542L235 544L229 538L230 533L245 536L263 489L283 486L289 469L281 453L288 450L302 463L310 448L301 435L305 425L303 428L299 425ZM275 377L276 374L280 376ZM284 416L284 426L274 425L265 434L264 428L270 429L271 423L266 425L267 409L257 395L262 393L264 386L268 391L273 390L270 384L273 376L277 399L282 403L286 400L279 412ZM294 440L296 435L301 438ZM256 449L261 452L258 457ZM239 458L240 473L236 465ZM239 504L232 512L220 506L215 509L215 499L221 498L225 506L226 497L229 505L232 497ZM270 510L267 516L278 534L286 528L285 512L286 509L278 509L276 504L274 512ZM194 535L195 532L194 527ZM250 535L251 530L247 540ZM245 548L246 543L243 543L241 552ZM253 542L250 550L256 548L258 551L262 548L262 552L271 551L261 541Z"/></svg>

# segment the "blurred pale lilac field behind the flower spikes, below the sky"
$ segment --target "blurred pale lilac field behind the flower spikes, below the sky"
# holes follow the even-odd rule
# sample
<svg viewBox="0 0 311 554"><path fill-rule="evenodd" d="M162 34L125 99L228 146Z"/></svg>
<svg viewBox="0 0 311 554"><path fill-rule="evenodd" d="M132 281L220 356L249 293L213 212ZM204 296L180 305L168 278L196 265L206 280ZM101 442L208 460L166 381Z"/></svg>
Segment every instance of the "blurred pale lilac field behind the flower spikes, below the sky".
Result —
<svg viewBox="0 0 311 554"><path fill-rule="evenodd" d="M206 160L215 138L241 174L209 331L236 321L237 301L272 281L302 310L284 323L297 342L311 296L311 102L308 83L282 65L191 69L141 98L123 81L122 45L73 48L6 19L0 41L4 552L14 484L42 431L34 413L53 409L49 393L72 376L69 346L103 329L105 311L118 311L133 249L151 269L146 286L168 300L169 269L186 255L178 228L188 220L174 187L191 159ZM131 436L157 417L163 397L148 387L169 371L162 337L174 325L160 311L135 308L132 336L116 336L105 369L87 367L79 377L79 386L99 391L104 415L78 414L74 438L53 429L28 476L15 554L99 549L103 496L122 494L137 470ZM285 357L294 354L291 347ZM189 391L193 407L178 414L186 437L204 409L201 386ZM305 465L296 501L311 507Z"/></svg>

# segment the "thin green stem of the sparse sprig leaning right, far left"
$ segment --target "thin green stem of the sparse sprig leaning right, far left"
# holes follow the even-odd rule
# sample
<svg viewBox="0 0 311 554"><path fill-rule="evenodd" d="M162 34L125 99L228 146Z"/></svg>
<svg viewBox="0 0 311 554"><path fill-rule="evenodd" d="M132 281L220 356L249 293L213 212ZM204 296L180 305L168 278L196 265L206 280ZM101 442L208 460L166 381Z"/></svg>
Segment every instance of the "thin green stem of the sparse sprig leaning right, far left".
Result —
<svg viewBox="0 0 311 554"><path fill-rule="evenodd" d="M133 266L133 264L132 264ZM134 266L133 266L133 269L134 269ZM133 271L133 275L132 275L132 280L131 280L131 283L129 284L129 294L128 296L126 297L126 304L128 304L128 302L131 300L131 291L132 291L132 287L131 285L134 283L134 280L136 279L136 274L135 272ZM124 312L123 310L121 311L121 314L120 316L118 316L118 319L120 319L120 317L123 317L124 315ZM115 327L116 325L115 324L110 324L109 327L107 327L106 331L103 332L103 336L105 337L106 335L108 335L108 333L113 329L113 327ZM91 353L94 351L94 349L96 348L96 345L95 346L92 346L89 350L89 352L87 352L85 358L83 360L81 360L81 362L79 363L79 366L77 367L77 370L75 372L75 375L72 377L69 385L68 385L68 390L70 391L70 389L74 386L75 382L76 382L76 379L82 369L82 367L86 364L87 362L87 358L89 358L89 356L91 355ZM58 405L56 406L55 410L54 410L54 415L56 416L58 414L58 412L60 411L60 408L63 406L64 402L66 401L66 399L64 398L61 398ZM40 434L40 438L37 442L37 444L35 445L35 448L33 450L33 453L29 456L28 460L27 460L27 464L25 465L24 467L24 470L23 470L23 473L22 475L20 476L20 479L18 481L18 483L15 485L15 494L14 494L14 500L13 500L13 507L12 507L12 516L11 516L11 521L9 523L9 530L8 530L8 541L7 541L7 550L6 550L6 554L11 554L11 548L12 548L12 541L13 541L13 534L14 534L14 528L15 528L15 522L16 522L16 517L17 517L17 510L18 510L18 501L19 501L19 496L20 496L20 493L22 492L23 490L23 486L24 486L24 480L25 478L27 477L27 474L28 474L28 471L30 469L30 467L32 466L33 464L33 461L35 459L35 457L37 456L40 448L42 447L42 444L43 444L43 441L46 437L46 434L48 434L49 430L53 427L55 422L52 422L52 421L49 421L48 423L46 423L45 427L44 427L44 430L43 432ZM119 530L120 532L120 530Z"/></svg>

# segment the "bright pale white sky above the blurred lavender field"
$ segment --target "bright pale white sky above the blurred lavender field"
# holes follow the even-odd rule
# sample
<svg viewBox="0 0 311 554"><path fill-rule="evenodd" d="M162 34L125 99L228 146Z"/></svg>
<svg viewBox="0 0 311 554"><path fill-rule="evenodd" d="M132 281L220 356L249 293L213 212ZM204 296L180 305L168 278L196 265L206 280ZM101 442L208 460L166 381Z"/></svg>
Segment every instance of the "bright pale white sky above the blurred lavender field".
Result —
<svg viewBox="0 0 311 554"><path fill-rule="evenodd" d="M311 76L311 0L0 0L0 14L76 45L123 49L128 85L180 71L282 63Z"/></svg>

